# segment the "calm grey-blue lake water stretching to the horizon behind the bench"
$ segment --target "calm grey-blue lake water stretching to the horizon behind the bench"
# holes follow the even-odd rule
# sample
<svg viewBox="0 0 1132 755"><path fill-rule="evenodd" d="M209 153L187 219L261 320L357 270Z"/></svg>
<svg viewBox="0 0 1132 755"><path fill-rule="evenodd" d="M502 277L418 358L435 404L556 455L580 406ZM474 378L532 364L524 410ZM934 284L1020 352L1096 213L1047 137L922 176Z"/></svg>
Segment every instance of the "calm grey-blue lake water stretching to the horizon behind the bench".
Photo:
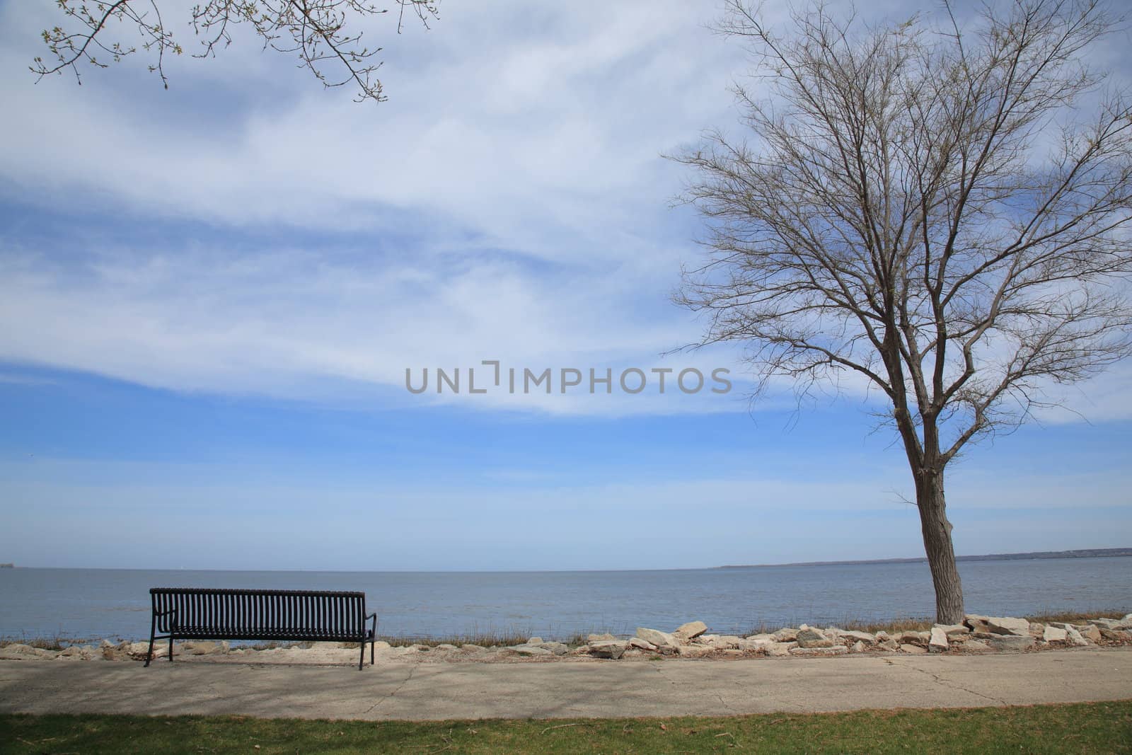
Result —
<svg viewBox="0 0 1132 755"><path fill-rule="evenodd" d="M963 561L967 610L1024 616L1132 610L1132 557ZM0 569L0 636L149 634L149 587L362 590L378 632L452 636L507 632L565 637L672 629L712 632L927 617L926 564L755 566L657 572L194 572Z"/></svg>

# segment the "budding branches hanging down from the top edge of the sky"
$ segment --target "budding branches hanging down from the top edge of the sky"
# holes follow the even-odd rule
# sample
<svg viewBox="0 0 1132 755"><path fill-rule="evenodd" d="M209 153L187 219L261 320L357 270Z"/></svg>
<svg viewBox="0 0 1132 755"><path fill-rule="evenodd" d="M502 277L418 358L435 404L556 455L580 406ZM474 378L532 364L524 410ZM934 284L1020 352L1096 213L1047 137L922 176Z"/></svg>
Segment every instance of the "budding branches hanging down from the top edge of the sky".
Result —
<svg viewBox="0 0 1132 755"><path fill-rule="evenodd" d="M394 0L398 6L397 32L401 32L405 8L428 26L437 16L439 0ZM111 62L137 52L138 46L121 40L108 38L113 27L125 27L139 38L142 50L148 52L151 71L161 76L165 88L165 54L182 54L185 49L174 33L165 25L161 7L168 0L55 0L62 15L75 27L55 26L44 29L43 42L52 60L36 58L32 71L42 79L49 74L69 69L82 84L79 66L106 68ZM353 84L358 87L357 101L381 102L385 95L377 78L380 61L375 55L381 48L370 49L361 43L358 28L366 18L386 14L367 0L207 0L194 6L189 23L200 38L201 46L195 57L215 57L217 48L232 42L232 31L241 24L255 31L264 49L292 53L299 66L307 68L326 87ZM67 23L67 22L65 22ZM336 68L328 74L327 67Z"/></svg>

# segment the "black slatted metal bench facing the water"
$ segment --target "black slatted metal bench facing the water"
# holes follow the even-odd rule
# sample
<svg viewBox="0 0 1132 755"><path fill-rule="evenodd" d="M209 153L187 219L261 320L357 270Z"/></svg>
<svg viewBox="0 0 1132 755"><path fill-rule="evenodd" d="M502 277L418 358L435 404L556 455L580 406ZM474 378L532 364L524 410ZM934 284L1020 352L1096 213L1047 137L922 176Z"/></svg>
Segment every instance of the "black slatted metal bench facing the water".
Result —
<svg viewBox="0 0 1132 755"><path fill-rule="evenodd" d="M298 642L357 642L358 669L374 663L377 614L366 614L363 592L316 590L211 590L153 587L149 654L155 640L256 640ZM370 621L367 627L366 623Z"/></svg>

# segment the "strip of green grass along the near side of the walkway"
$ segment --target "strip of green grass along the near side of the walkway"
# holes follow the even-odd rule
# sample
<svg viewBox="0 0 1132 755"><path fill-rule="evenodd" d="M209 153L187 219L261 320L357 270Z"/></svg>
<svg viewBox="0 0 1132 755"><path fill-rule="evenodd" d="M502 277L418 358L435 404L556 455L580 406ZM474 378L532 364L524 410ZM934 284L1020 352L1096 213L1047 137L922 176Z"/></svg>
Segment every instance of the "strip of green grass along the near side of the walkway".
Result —
<svg viewBox="0 0 1132 755"><path fill-rule="evenodd" d="M1132 701L729 718L307 721L0 715L25 753L1132 753Z"/></svg>

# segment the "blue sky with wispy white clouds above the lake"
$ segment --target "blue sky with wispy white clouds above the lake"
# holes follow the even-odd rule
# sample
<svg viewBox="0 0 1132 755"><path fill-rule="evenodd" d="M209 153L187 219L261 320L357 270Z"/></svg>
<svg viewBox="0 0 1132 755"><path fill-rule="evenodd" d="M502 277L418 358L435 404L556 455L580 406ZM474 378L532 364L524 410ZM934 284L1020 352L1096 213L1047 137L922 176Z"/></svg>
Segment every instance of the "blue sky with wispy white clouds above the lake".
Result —
<svg viewBox="0 0 1132 755"><path fill-rule="evenodd" d="M188 5L168 3L174 29ZM36 83L54 3L0 2L0 561L923 555L868 396L752 401L737 350L679 351L703 323L670 294L703 226L663 155L736 123L749 59L709 28L720 10L452 3L400 35L385 18L368 33L388 100L357 104L240 35L171 60L168 91L129 59ZM1094 51L1114 81L1130 41ZM458 394L436 393L438 368ZM511 393L512 368L549 368L551 393ZM672 370L668 391L620 389L633 368ZM563 369L582 388L561 393ZM590 369L611 393L585 389ZM703 389L674 387L685 369ZM957 551L1132 546L1130 387L1118 366L949 467Z"/></svg>

